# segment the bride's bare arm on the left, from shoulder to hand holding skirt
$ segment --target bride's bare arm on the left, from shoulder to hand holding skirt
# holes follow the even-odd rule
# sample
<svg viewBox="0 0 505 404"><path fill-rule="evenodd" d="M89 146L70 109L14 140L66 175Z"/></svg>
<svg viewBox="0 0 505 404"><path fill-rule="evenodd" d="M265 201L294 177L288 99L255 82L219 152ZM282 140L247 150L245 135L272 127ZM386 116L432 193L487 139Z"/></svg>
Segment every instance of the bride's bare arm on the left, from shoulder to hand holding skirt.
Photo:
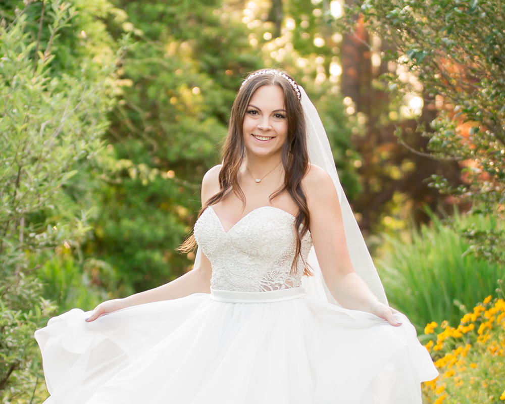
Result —
<svg viewBox="0 0 505 404"><path fill-rule="evenodd" d="M218 175L220 169L221 166L216 166L205 174L201 183L202 204L219 191ZM200 250L199 263L197 266L194 266L191 271L172 282L168 282L154 289L135 293L123 299L104 301L96 306L93 313L86 321L93 321L104 314L112 313L130 306L141 305L153 301L177 299L193 293L210 293L211 273L211 263Z"/></svg>

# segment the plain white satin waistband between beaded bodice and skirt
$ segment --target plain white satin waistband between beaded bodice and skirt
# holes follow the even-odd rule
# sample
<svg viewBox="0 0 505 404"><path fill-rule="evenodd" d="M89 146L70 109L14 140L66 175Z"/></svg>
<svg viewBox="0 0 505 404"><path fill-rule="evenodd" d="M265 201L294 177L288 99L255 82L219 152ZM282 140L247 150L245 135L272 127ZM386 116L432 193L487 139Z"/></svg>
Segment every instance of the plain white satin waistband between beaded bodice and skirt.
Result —
<svg viewBox="0 0 505 404"><path fill-rule="evenodd" d="M297 299L305 294L305 289L301 286L279 290L267 290L265 292L239 292L235 290L211 289L211 299L230 303L270 303L273 301Z"/></svg>

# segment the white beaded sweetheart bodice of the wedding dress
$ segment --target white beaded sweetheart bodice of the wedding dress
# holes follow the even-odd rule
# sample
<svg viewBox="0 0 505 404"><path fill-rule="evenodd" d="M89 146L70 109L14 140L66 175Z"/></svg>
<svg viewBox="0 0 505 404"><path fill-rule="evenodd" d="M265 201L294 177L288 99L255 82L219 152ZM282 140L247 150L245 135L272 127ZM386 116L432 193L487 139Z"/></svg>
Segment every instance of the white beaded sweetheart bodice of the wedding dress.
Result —
<svg viewBox="0 0 505 404"><path fill-rule="evenodd" d="M211 287L261 292L301 286L301 260L291 273L296 248L294 220L282 209L264 206L225 232L212 207L207 208L194 225L194 237L211 262ZM305 261L311 246L307 232L301 242Z"/></svg>

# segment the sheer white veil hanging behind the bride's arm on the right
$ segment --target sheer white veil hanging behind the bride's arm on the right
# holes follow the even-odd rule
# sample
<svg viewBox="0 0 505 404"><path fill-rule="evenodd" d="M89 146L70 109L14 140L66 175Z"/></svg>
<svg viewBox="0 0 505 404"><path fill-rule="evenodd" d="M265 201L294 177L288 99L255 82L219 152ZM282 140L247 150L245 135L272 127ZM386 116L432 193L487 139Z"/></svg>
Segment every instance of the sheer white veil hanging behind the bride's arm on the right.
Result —
<svg viewBox="0 0 505 404"><path fill-rule="evenodd" d="M333 180L333 184L338 193L342 217L345 228L345 237L347 247L349 249L352 266L356 273L366 282L372 293L384 304L387 305L386 293L380 281L377 270L368 251L368 247L363 238L363 234L358 226L358 223L352 213L349 202L338 179L337 169L333 160L328 136L324 130L323 123L319 118L316 107L312 104L309 96L304 88L298 85L301 93L301 106L303 107L307 119L307 146L309 148L309 159L312 164L322 167ZM308 264L311 266L311 271L314 276L305 276L303 280L304 287L307 293L312 296L338 305L333 296L330 294L323 276L321 268L317 262L314 247L309 254Z"/></svg>

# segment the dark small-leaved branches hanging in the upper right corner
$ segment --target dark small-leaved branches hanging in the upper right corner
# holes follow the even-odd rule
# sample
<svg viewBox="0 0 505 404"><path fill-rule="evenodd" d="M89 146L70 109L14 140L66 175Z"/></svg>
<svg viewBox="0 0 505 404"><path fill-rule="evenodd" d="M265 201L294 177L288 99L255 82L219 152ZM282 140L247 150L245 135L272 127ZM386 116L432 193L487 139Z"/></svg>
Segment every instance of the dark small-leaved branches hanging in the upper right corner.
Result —
<svg viewBox="0 0 505 404"><path fill-rule="evenodd" d="M369 26L396 47L392 60L418 77L425 103L439 110L431 128L433 156L461 162L466 184L441 175L432 186L470 201L476 213L505 219L505 3L502 0L386 0L358 2ZM412 80L390 76L399 95ZM505 232L461 229L471 252L505 263Z"/></svg>

